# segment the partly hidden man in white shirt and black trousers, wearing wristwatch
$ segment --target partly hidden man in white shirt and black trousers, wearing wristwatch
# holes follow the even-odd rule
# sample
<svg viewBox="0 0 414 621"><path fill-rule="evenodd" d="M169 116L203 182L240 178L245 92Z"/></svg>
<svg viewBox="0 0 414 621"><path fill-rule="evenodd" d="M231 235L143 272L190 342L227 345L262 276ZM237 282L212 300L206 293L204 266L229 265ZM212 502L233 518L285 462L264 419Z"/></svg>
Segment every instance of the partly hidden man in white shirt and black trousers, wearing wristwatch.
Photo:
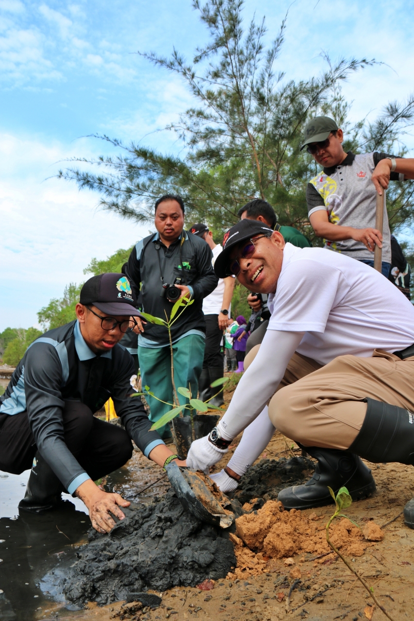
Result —
<svg viewBox="0 0 414 621"><path fill-rule="evenodd" d="M205 240L213 253L211 260L214 266L216 257L221 253L221 245L214 242L213 233L206 224L193 224L190 233ZM229 325L231 298L234 291L234 276L220 278L218 285L209 296L203 299L203 313L206 320L206 349L204 352L203 369L198 379L198 392L203 393L203 401L216 394L217 389L209 388L210 384L216 379L222 378L223 353L223 331ZM210 401L212 406L220 407L224 404L223 390Z"/></svg>

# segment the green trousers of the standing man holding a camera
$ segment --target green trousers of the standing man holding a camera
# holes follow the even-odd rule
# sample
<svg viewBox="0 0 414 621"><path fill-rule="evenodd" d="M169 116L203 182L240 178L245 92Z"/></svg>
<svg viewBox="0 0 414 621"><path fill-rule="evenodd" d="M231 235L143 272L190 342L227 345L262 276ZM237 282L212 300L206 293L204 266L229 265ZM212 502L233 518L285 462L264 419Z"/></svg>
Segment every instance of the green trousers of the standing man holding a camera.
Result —
<svg viewBox="0 0 414 621"><path fill-rule="evenodd" d="M190 334L180 338L173 345L174 383L175 388L180 386L191 389L191 396L195 399L198 390L198 378L203 368L205 338L198 334ZM162 401L173 402L173 386L171 381L171 351L169 347L138 347L139 365L141 369L142 388L149 386L150 391ZM159 420L163 414L172 409L154 397L146 397L150 407L149 419L151 422ZM188 403L188 399L178 394L180 405ZM190 415L189 410L183 414ZM158 430L163 438L171 436L168 425Z"/></svg>

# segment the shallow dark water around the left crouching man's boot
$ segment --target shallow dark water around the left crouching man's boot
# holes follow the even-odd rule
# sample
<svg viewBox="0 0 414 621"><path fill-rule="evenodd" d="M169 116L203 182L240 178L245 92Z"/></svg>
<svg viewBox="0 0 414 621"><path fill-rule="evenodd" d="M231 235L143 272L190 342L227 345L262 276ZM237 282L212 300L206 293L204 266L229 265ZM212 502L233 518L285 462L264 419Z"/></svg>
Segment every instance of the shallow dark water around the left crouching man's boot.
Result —
<svg viewBox="0 0 414 621"><path fill-rule="evenodd" d="M40 590L40 578L63 558L75 555L73 545L85 540L90 527L86 507L63 494L70 509L43 515L23 513L17 505L24 496L30 470L22 474L0 471L0 619L31 621L49 617L55 608ZM39 610L39 607L42 610ZM47 612L46 612L47 611Z"/></svg>

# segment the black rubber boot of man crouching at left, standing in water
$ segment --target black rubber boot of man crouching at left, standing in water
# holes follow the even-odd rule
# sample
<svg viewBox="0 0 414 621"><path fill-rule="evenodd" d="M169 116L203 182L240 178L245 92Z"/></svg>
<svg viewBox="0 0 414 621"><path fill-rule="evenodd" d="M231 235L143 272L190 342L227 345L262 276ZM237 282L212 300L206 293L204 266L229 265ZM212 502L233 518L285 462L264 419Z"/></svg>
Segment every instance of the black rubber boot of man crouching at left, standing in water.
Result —
<svg viewBox="0 0 414 621"><path fill-rule="evenodd" d="M19 509L30 513L41 513L55 509L63 504L62 492L65 491L52 468L37 451L33 460L32 471L27 481L24 499L19 502ZM70 504L71 503L67 503ZM73 505L72 505L73 506Z"/></svg>

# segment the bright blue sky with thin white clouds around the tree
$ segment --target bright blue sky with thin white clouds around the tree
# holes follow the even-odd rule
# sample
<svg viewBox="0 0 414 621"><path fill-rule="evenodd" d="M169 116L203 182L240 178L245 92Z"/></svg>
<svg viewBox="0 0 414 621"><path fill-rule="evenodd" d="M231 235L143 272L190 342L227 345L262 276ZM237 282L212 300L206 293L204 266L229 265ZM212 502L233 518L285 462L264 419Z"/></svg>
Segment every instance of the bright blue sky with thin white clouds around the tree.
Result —
<svg viewBox="0 0 414 621"><path fill-rule="evenodd" d="M290 6L291 5L291 6ZM272 39L290 6L277 69L300 79L331 57L387 63L344 85L351 118L374 119L413 90L412 2L246 1ZM191 104L178 78L137 51L191 58L207 40L189 0L0 0L0 330L28 327L65 284L85 279L91 258L128 247L147 227L97 209L98 196L53 178L62 160L108 147L94 133L174 152L162 128ZM412 137L407 138L414 147Z"/></svg>

